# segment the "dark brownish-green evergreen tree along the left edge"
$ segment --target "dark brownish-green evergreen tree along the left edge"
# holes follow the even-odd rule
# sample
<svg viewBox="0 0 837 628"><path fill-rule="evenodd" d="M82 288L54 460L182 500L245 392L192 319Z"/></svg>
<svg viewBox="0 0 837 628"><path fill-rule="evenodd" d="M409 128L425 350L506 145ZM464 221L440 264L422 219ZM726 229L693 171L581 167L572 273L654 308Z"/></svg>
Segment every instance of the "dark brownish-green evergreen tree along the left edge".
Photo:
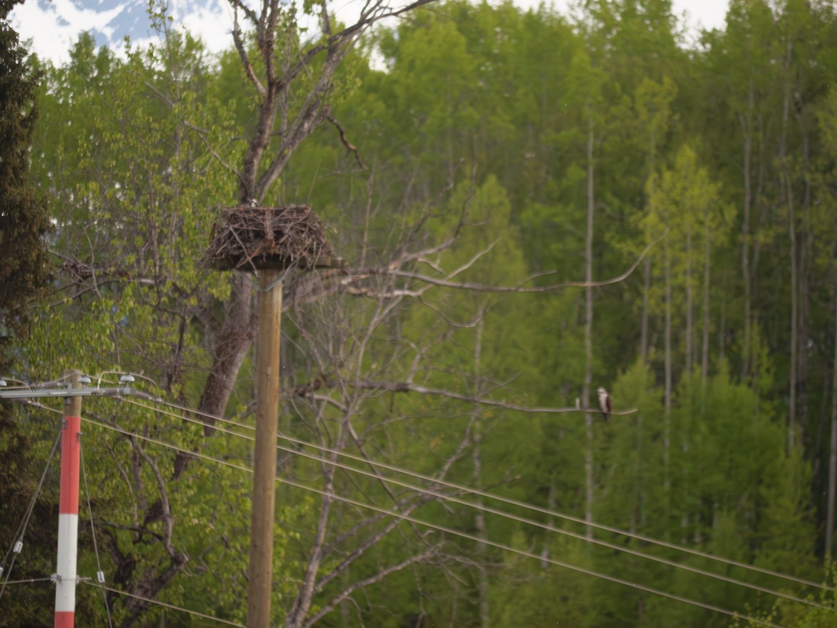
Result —
<svg viewBox="0 0 837 628"><path fill-rule="evenodd" d="M0 372L8 368L13 342L26 332L28 303L44 291L47 281L43 238L47 232L47 205L28 182L29 150L35 126L37 75L28 68L26 50L18 33L8 23L8 13L18 0L0 2ZM15 530L34 492L39 461L27 435L13 419L9 404L0 405L0 552L4 571L15 579L49 573L54 547L56 513L54 500L44 497L35 504L28 525L32 550L13 565L17 556L7 555L7 542L17 541ZM52 592L37 589L28 600L3 600L3 623L33 625L44 620L41 610L49 609Z"/></svg>

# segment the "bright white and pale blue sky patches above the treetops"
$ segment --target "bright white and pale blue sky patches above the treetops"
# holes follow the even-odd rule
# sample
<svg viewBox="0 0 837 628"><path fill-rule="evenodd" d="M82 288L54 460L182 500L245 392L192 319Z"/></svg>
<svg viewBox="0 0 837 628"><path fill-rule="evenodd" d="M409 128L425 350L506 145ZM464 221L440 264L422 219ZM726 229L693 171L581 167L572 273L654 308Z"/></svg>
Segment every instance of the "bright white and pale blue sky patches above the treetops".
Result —
<svg viewBox="0 0 837 628"><path fill-rule="evenodd" d="M545 0L549 3L549 0ZM338 16L344 21L357 15L363 0L336 0ZM541 0L513 0L521 8L534 8ZM393 5L403 0L393 0ZM568 13L569 0L552 0L561 13ZM687 15L687 23L698 27L720 28L727 13L728 0L673 0L675 15ZM110 44L117 51L124 47L125 35L141 45L153 38L146 16L147 0L25 0L10 15L21 39L31 40L31 48L54 64L69 60L69 47L81 31L93 30L98 44ZM226 0L169 0L175 26L199 33L210 50L232 45L232 12Z"/></svg>

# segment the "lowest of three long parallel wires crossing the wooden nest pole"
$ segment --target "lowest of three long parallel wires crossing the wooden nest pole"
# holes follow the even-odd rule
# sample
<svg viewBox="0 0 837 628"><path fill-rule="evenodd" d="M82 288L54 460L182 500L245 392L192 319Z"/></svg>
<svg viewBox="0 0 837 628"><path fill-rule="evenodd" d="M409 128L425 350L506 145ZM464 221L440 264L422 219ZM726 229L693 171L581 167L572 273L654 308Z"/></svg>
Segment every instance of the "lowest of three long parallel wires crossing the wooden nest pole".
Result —
<svg viewBox="0 0 837 628"><path fill-rule="evenodd" d="M223 466L229 466L229 467L232 467L234 469L239 469L241 471L246 471L248 473L253 473L253 470L250 469L249 467L241 466L241 465L235 465L233 463L223 461L223 460L220 460L218 458L214 458L213 456L206 456L206 455L203 455L203 454L198 454L194 451L187 450L183 447L178 447L177 445L172 445L172 444L166 443L162 440L151 438L150 436L144 436L144 435L136 434L136 433L131 432L129 430L123 430L119 427L116 427L116 425L107 425L105 423L100 423L99 421L85 419L85 418L82 418L82 420L89 423L90 425L98 425L99 427L105 428L105 430L113 430L113 431L119 432L123 435L128 435L128 436L131 436L133 438L137 438L137 439L140 439L140 440L145 440L146 442L150 442L150 443L153 443L155 445L161 445L162 447L166 447L168 449L180 451L181 453L188 454L189 456L193 456L193 457L198 458L200 460L211 461L211 462L215 462L217 464L223 465ZM304 491L315 492L315 493L317 493L319 495L322 495L322 496L331 497L331 499L335 499L338 502L345 502L345 503L351 504L352 506L367 508L369 510L387 515L388 517L396 517L396 518L401 519L403 521L412 522L412 523L415 523L417 525L423 526L424 528L430 528L430 529L433 529L433 530L436 530L436 531L439 531L439 532L442 532L442 533L449 534L450 536L465 538L465 539L470 540L470 541L475 541L476 543L483 543L485 545L489 545L489 546L494 547L494 548L502 549L506 552L516 553L516 554L519 554L521 556L526 556L527 558L537 559L537 560L540 560L540 561L545 562L545 563L554 564L554 565L557 565L558 567L562 567L564 569L571 569L573 571L578 571L579 573L582 573L582 574L591 575L594 578L609 580L610 582L614 582L614 583L617 583L617 584L624 584L625 586L628 586L632 589L637 589L637 590L640 590L640 591L644 591L645 593L650 593L652 595L660 595L661 597L665 597L665 598L668 598L670 600L679 601L679 602L682 602L684 604L697 606L697 607L702 608L704 610L711 610L711 611L714 611L716 613L720 613L722 615L728 615L728 616L731 616L731 617L740 618L742 620L752 621L753 623L756 623L756 624L759 624L759 625L767 625L767 626L770 626L771 628L783 628L782 626L780 626L778 624L774 624L773 622L768 621L768 620L761 620L761 619L758 619L756 617L750 617L750 616L747 616L747 615L742 615L740 613L737 613L736 611L723 609L720 606L706 604L705 602L700 602L700 601L697 601L697 600L691 600L691 599L683 597L681 595L668 593L667 591L661 591L660 589L653 589L651 587L644 586L644 584L636 584L636 583L630 582L629 580L624 580L624 579L618 578L616 576L611 576L611 575L608 575L608 574L600 574L596 571L593 571L592 569L585 569L583 567L579 567L578 565L564 563L560 560L540 556L540 555L538 555L536 553L532 553L532 552L527 552L526 550L512 548L509 545L506 545L504 543L497 543L496 541L491 541L488 538L480 538L480 537L478 537L474 534L463 533L463 532L460 532L458 530L454 530L453 528L447 528L447 527L440 526L440 525L435 524L435 523L426 522L426 521L424 521L422 519L419 519L417 517L411 517L410 515L405 515L401 512L398 512L398 511L388 510L386 508L373 506L371 504L367 504L367 503L364 503L364 502L358 502L357 500L354 500L350 497L342 497L341 495L337 495L336 493L326 492L326 491L323 491L321 489L314 488L313 486L306 486L306 485L304 485L300 482L297 482L297 481L293 481L293 480L290 480L290 479L279 479L279 478L277 478L276 482L277 483L282 483L282 484L287 484L288 486L294 486L295 488L300 488Z"/></svg>

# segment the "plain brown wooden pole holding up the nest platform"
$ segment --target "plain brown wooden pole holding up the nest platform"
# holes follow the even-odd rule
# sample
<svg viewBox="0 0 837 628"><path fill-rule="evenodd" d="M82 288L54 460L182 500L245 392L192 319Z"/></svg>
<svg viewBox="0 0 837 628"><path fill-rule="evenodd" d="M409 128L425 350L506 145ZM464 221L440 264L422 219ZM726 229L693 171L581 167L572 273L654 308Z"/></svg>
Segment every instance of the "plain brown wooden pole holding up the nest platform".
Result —
<svg viewBox="0 0 837 628"><path fill-rule="evenodd" d="M276 430L279 423L282 281L280 270L259 270L259 331L256 336L256 434L253 514L250 522L248 628L270 626L273 524L276 497Z"/></svg>

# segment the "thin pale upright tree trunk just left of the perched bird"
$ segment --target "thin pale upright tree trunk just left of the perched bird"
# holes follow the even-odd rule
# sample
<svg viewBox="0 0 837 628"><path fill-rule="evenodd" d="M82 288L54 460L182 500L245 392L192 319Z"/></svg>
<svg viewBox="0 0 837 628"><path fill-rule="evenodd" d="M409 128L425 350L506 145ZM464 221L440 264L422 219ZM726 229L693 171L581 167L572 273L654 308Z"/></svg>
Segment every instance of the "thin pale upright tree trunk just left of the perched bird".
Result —
<svg viewBox="0 0 837 628"><path fill-rule="evenodd" d="M585 408L589 408L590 389L593 385L593 213L595 198L593 196L593 111L588 105L588 135L587 135L587 239L584 244L584 281L588 286L584 289L585 317L584 317L584 353L587 358L584 368L584 384L582 399ZM593 415L584 414L584 427L587 432L587 450L584 453L584 518L593 522ZM588 538L593 538L593 527L587 526Z"/></svg>

